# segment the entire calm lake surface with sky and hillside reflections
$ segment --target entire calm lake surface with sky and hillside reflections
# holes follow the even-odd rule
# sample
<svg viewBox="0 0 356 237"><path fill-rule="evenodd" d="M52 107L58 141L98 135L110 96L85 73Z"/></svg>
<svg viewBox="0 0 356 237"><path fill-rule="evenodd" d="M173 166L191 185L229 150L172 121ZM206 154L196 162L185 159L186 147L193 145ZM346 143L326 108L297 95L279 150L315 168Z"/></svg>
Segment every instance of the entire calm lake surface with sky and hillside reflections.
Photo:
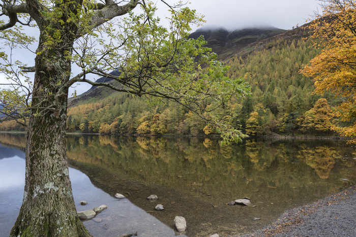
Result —
<svg viewBox="0 0 356 237"><path fill-rule="evenodd" d="M25 136L0 133L0 144L0 233L6 236L22 201ZM187 236L235 236L356 183L356 149L338 140L221 146L199 138L68 136L67 151L77 210L108 206L99 222L84 222L94 236L174 236L175 216L186 218ZM151 194L159 199L147 200ZM226 205L243 197L256 207ZM165 210L155 211L157 204Z"/></svg>

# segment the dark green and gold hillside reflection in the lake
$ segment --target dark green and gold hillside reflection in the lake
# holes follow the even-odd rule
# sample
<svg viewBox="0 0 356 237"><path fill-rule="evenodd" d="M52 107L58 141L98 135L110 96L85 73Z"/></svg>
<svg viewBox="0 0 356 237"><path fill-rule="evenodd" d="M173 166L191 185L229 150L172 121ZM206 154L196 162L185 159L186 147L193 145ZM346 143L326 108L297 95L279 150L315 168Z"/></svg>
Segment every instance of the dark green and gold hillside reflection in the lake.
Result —
<svg viewBox="0 0 356 237"><path fill-rule="evenodd" d="M8 144L16 139L0 137ZM221 146L213 139L69 136L67 151L70 164L109 196L127 195L169 227L174 216L184 216L190 236L261 228L287 209L356 182L356 152L343 141L270 139ZM159 196L156 203L146 200L151 194ZM257 207L226 205L244 196ZM163 212L153 212L158 203Z"/></svg>

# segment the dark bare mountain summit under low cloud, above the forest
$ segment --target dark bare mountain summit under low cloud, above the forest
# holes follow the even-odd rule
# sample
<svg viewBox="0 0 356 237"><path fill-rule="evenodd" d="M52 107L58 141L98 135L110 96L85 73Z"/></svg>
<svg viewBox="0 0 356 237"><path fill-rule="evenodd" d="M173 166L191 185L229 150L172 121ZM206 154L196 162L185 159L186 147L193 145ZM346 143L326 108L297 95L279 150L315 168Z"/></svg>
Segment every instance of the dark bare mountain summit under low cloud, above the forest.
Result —
<svg viewBox="0 0 356 237"><path fill-rule="evenodd" d="M228 31L225 28L211 29L202 27L191 33L189 38L197 39L201 35L204 36L207 41L206 46L212 48L212 51L218 54L220 59L224 60L243 51L248 45L277 36L285 31L272 26L236 29L233 31Z"/></svg>

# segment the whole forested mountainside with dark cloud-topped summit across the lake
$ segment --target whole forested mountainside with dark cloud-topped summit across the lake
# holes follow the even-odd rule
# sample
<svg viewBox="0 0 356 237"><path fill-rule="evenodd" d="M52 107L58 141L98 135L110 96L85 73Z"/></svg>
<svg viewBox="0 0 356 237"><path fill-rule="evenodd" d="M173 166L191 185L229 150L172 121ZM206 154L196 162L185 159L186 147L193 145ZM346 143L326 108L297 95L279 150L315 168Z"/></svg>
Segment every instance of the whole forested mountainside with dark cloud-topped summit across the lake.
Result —
<svg viewBox="0 0 356 237"><path fill-rule="evenodd" d="M227 77L243 78L251 87L252 96L233 98L225 108L231 126L258 136L321 134L307 129L313 126L305 119L310 114L307 112L317 111L316 105L326 99L335 101L331 97L321 101L320 96L312 94L312 80L299 73L319 53L311 47L311 41L305 40L309 35L305 26L287 31L273 27L233 31L202 28L192 33L191 38L204 35L207 46L229 67ZM110 76L99 79L104 80L110 80ZM147 104L141 97L106 87L93 87L71 101L68 131L197 135L204 134L206 127L182 106Z"/></svg>

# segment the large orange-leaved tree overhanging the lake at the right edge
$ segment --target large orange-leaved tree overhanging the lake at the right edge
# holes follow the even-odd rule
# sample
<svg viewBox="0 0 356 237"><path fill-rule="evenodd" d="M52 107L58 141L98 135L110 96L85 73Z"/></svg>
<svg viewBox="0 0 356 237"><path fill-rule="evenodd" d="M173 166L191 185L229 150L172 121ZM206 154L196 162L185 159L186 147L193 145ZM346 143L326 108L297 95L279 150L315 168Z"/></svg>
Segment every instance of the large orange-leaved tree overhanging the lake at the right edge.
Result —
<svg viewBox="0 0 356 237"><path fill-rule="evenodd" d="M301 71L315 81L315 93L331 92L339 123L332 129L356 143L356 1L323 0L322 13L309 27L321 53Z"/></svg>

